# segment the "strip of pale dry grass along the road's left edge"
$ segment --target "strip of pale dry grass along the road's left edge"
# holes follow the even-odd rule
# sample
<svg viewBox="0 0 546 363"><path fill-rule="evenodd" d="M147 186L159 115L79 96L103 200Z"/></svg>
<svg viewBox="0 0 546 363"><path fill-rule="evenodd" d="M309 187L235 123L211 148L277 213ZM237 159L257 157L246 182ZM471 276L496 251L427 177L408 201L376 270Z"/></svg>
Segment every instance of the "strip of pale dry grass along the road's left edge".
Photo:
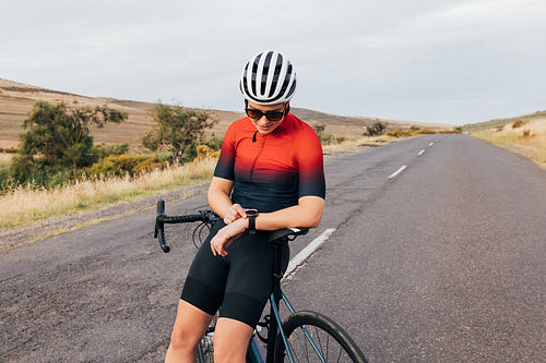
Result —
<svg viewBox="0 0 546 363"><path fill-rule="evenodd" d="M16 187L0 197L0 229L204 182L212 178L215 164L204 159L134 179L90 179L54 190Z"/></svg>

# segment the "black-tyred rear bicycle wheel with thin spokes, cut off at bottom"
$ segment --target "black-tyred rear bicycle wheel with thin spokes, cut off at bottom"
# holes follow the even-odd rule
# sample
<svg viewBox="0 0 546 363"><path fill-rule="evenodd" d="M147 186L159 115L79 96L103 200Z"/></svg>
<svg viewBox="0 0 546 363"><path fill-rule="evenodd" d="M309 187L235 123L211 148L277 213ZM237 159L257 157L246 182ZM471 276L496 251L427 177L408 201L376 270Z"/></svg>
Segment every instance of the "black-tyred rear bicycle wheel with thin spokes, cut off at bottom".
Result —
<svg viewBox="0 0 546 363"><path fill-rule="evenodd" d="M296 312L283 323L283 330L296 362L367 363L348 334L320 313ZM281 334L275 344L275 362L289 362Z"/></svg>

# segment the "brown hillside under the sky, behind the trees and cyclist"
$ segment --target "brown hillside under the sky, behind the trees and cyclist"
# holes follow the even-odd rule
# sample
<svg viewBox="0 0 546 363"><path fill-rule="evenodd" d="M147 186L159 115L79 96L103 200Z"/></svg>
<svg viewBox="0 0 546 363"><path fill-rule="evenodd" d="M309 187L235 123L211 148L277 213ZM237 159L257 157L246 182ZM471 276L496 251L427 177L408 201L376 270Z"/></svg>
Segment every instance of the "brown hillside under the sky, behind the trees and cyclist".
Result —
<svg viewBox="0 0 546 363"><path fill-rule="evenodd" d="M0 78L1 148L16 147L19 144L19 134L23 131L21 125L26 119L34 102L37 100L45 100L51 104L64 102L74 108L108 105L109 107L129 114L128 120L121 124L107 124L104 129L93 130L92 133L96 143L128 143L133 149L141 149L140 138L153 126L153 121L149 114L149 110L153 107L153 104L150 102L105 97L86 97ZM244 117L242 112L222 110L206 111L211 113L212 117L218 119L218 123L210 131L210 133L215 135L223 135L233 121ZM393 121L365 117L342 117L302 108L293 108L292 112L311 125L324 124L327 126L327 133L345 136L360 135L366 130L366 125L379 120L389 122L389 130L410 128L411 125L429 129L451 129L451 126L441 124Z"/></svg>

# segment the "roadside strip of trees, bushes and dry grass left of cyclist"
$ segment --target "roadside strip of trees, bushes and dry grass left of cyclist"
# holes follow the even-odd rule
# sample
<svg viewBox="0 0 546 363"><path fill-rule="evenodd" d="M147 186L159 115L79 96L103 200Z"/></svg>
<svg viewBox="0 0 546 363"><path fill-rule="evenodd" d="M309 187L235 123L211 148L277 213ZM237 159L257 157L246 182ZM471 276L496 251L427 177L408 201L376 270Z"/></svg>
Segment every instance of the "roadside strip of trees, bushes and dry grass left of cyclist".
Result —
<svg viewBox="0 0 546 363"><path fill-rule="evenodd" d="M133 155L128 144L93 145L90 125L121 122L126 114L37 101L16 156L0 162L0 228L210 180L222 141L204 140L203 130L214 120L165 105L152 113L161 124L149 135L173 154Z"/></svg>

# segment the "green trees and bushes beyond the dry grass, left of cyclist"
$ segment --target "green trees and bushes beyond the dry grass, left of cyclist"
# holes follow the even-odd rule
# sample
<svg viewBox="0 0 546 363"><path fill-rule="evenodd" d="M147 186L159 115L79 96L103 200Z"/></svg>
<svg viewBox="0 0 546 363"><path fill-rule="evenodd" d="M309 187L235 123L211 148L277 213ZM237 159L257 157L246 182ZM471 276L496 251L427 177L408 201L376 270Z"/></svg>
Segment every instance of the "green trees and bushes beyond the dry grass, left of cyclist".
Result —
<svg viewBox="0 0 546 363"><path fill-rule="evenodd" d="M221 140L204 138L203 130L215 122L205 112L156 105L151 113L158 128L144 137L146 145L154 150L159 146L166 148L170 155L131 155L128 144L94 145L91 125L103 128L107 122L120 123L127 118L115 109L106 106L72 109L62 102L36 101L23 123L25 131L20 134L19 148L2 149L16 152L16 155L10 164L0 166L0 193L19 185L55 189L90 178L133 178L166 169L169 162L191 161L198 156L201 144L211 152L219 149Z"/></svg>

